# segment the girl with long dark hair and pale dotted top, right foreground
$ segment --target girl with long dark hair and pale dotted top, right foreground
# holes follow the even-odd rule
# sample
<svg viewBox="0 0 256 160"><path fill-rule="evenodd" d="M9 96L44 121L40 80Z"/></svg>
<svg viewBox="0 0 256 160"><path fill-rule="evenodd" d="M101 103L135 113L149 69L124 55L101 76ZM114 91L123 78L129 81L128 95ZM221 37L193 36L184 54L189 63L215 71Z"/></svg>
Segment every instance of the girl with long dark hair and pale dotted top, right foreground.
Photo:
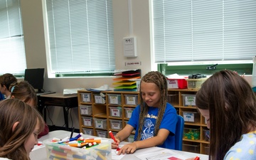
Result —
<svg viewBox="0 0 256 160"><path fill-rule="evenodd" d="M213 74L196 93L210 129L209 159L255 159L256 99L248 82L230 70Z"/></svg>

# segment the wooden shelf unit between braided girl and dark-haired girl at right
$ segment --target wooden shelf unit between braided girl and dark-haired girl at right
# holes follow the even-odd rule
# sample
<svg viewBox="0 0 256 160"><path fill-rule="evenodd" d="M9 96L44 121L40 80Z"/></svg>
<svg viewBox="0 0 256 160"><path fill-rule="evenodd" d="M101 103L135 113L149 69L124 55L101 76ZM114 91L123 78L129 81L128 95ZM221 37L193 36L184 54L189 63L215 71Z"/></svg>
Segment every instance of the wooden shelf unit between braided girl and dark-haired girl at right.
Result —
<svg viewBox="0 0 256 160"><path fill-rule="evenodd" d="M171 105L173 105L176 108L177 114L180 114L181 116L183 116L182 114L183 112L187 112L187 113L198 112L195 106L183 105L184 103L183 98L186 97L186 95L195 96L197 91L198 90L189 90L189 89L169 89L168 101L171 103ZM200 137L198 140L183 138L183 150L188 149L191 152L208 154L209 142L204 140L205 139L204 130L208 130L206 125L206 119L199 112L198 112L198 116L199 116L198 121L196 121L195 119L195 122L188 122L185 119L184 128L199 129Z"/></svg>

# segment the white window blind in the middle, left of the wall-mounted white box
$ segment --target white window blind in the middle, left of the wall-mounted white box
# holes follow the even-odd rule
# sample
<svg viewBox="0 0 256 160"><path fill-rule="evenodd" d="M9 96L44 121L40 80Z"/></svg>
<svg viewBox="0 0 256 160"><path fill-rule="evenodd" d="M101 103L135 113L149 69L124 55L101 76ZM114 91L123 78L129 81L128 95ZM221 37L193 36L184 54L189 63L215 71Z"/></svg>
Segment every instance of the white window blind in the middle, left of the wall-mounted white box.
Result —
<svg viewBox="0 0 256 160"><path fill-rule="evenodd" d="M46 0L52 73L115 69L111 0Z"/></svg>

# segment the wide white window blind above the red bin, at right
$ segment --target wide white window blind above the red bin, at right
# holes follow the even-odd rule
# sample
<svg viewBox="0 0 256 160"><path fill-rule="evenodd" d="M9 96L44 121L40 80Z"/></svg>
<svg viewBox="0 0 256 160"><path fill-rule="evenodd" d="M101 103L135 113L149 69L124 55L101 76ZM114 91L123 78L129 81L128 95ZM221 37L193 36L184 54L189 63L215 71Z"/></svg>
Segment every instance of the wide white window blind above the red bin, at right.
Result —
<svg viewBox="0 0 256 160"><path fill-rule="evenodd" d="M256 55L255 0L153 0L156 63L250 60Z"/></svg>

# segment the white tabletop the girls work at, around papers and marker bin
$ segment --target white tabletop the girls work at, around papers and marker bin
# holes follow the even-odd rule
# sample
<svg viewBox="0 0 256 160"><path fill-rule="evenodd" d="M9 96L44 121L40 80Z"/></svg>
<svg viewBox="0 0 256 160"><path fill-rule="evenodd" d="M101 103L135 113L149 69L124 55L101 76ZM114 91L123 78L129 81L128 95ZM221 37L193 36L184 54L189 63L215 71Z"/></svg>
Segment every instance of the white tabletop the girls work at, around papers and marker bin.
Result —
<svg viewBox="0 0 256 160"><path fill-rule="evenodd" d="M75 137L78 133L74 133L73 137ZM57 130L57 131L53 131L53 132L49 132L49 134L41 137L40 139L38 139L39 142L43 142L46 139L53 139L53 137L58 137L58 138L64 138L64 137L69 137L70 136L70 132L68 131L63 131L63 130ZM92 136L87 136L87 135L83 135L83 137L92 137ZM125 144L126 142L122 142L122 144ZM166 149L162 149L160 147L150 147L150 148L146 148L146 149L138 149L137 151L135 151L134 154L126 154L122 160L140 160L137 158L137 155L140 154L148 154L148 153L152 153L154 151L163 151ZM168 149L169 150L169 149ZM171 149L170 149L171 150ZM195 153L191 153L191 152L187 152L187 151L176 151L176 150L171 150L174 151L177 154L181 154L183 156L188 156L188 157L196 157L196 156L200 156L201 160L208 160L208 155L205 154L195 154ZM31 160L46 160L47 156L46 156L46 147L38 147L38 149L33 149L33 151L31 151L30 154L30 158Z"/></svg>

